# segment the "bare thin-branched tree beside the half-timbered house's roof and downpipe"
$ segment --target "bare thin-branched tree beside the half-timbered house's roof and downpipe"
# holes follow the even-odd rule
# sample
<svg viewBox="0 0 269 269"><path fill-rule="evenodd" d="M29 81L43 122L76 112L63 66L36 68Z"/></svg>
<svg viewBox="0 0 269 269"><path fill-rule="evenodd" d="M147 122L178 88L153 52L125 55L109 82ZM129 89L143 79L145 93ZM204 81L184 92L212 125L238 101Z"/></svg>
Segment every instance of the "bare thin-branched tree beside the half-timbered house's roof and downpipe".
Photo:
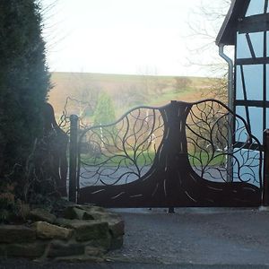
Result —
<svg viewBox="0 0 269 269"><path fill-rule="evenodd" d="M191 52L191 56L188 58L189 64L200 66L200 68L206 70L208 76L220 78L213 83L210 94L213 95L214 98L223 101L227 100L228 66L223 59L221 59L221 56L218 56L218 48L215 45L215 39L218 31L221 29L221 23L228 12L230 3L231 0L203 0L193 11L195 20L192 20L194 17L190 16L188 22L192 32L188 38L193 41L193 46L189 48ZM199 40L199 42L196 40ZM213 53L209 54L209 52L212 51L216 52L214 54L215 56L212 56ZM197 55L204 55L203 60L199 57L199 62L196 61Z"/></svg>

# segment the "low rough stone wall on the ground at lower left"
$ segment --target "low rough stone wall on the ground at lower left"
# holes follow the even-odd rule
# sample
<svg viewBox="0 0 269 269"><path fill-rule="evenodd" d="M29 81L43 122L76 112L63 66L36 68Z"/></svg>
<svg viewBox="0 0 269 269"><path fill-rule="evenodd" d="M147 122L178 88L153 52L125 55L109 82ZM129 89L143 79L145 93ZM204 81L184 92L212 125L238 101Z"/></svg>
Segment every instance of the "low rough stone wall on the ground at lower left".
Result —
<svg viewBox="0 0 269 269"><path fill-rule="evenodd" d="M0 255L102 261L122 247L124 221L116 213L92 205L70 205L61 217L37 208L23 225L0 225Z"/></svg>

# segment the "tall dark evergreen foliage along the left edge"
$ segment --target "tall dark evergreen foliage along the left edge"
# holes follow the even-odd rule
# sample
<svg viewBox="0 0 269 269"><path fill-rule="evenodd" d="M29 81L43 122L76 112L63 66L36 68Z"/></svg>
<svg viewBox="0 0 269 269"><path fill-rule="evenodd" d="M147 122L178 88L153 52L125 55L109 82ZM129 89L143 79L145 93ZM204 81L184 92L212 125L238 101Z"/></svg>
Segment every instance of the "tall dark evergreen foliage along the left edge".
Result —
<svg viewBox="0 0 269 269"><path fill-rule="evenodd" d="M49 74L39 4L0 1L0 177L12 180L42 134ZM12 175L12 176L11 176ZM18 184L20 187L20 184Z"/></svg>

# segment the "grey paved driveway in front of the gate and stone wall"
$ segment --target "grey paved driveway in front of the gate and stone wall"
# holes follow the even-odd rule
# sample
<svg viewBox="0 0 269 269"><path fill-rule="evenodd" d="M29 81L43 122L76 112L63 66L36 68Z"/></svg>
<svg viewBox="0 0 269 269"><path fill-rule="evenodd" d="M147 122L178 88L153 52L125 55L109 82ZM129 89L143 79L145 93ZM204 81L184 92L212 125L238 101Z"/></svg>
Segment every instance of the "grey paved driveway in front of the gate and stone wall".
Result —
<svg viewBox="0 0 269 269"><path fill-rule="evenodd" d="M256 209L117 210L124 247L105 264L2 260L0 268L269 268L269 212Z"/></svg>

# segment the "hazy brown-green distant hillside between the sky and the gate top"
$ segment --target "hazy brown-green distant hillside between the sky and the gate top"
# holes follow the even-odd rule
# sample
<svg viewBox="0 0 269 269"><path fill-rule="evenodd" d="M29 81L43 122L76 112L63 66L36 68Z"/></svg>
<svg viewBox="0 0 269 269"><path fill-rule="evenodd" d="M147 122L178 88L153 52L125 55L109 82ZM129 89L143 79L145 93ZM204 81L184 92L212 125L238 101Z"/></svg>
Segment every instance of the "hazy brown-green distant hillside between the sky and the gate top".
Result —
<svg viewBox="0 0 269 269"><path fill-rule="evenodd" d="M114 101L117 117L138 105L161 106L169 100L195 101L210 98L213 78L127 74L52 73L54 85L48 101L59 117L69 97L68 113L80 114L88 103L91 116L100 91L107 91ZM77 101L76 101L77 100Z"/></svg>

